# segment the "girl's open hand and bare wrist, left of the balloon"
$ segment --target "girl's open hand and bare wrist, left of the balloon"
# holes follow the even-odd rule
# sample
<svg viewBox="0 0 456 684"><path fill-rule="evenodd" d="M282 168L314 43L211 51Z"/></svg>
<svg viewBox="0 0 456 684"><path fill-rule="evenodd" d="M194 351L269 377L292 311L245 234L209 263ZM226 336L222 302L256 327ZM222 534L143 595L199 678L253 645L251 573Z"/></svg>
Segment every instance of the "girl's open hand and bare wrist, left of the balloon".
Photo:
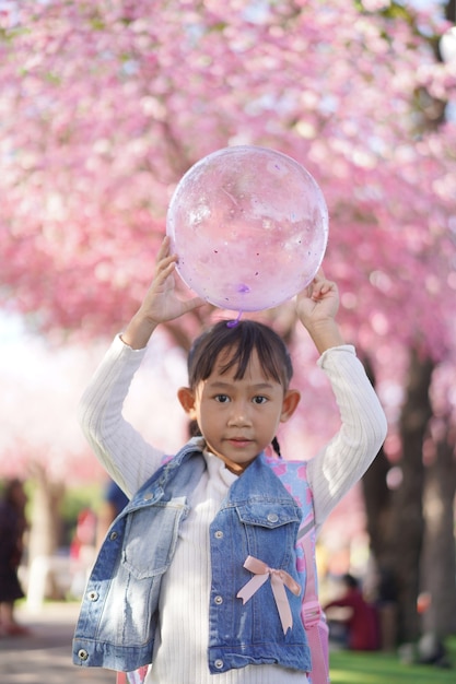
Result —
<svg viewBox="0 0 456 684"><path fill-rule="evenodd" d="M133 349L142 349L156 326L174 320L206 304L201 297L179 299L175 293L174 271L177 255L169 253L169 238L166 236L159 249L154 276L145 297L121 338Z"/></svg>

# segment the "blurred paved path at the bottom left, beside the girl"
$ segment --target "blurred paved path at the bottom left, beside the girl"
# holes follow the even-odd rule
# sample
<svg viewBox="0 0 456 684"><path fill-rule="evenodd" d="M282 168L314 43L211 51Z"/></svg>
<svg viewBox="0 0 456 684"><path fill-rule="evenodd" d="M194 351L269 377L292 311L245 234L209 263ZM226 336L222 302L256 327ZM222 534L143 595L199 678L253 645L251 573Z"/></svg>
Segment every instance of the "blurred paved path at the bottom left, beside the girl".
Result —
<svg viewBox="0 0 456 684"><path fill-rule="evenodd" d="M77 603L45 604L37 614L17 611L27 636L0 638L1 684L116 684L116 673L78 668L71 661Z"/></svg>

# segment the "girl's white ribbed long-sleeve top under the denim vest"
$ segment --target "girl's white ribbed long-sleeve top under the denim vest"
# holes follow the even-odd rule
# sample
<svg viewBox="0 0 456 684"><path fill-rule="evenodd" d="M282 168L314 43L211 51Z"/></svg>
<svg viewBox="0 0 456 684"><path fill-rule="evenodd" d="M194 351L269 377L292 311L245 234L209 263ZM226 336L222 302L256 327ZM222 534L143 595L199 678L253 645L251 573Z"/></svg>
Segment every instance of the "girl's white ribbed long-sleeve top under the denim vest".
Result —
<svg viewBox="0 0 456 684"><path fill-rule="evenodd" d="M130 349L117 337L80 406L82 428L97 458L129 495L155 472L163 458L163 452L144 441L121 415L144 353ZM317 528L363 475L386 434L384 412L354 347L328 350L318 364L331 382L341 427L307 465ZM204 453L204 458L208 469L192 492L190 514L162 581L154 664L147 684L305 684L305 673L278 665L209 673L209 526L236 475L213 455Z"/></svg>

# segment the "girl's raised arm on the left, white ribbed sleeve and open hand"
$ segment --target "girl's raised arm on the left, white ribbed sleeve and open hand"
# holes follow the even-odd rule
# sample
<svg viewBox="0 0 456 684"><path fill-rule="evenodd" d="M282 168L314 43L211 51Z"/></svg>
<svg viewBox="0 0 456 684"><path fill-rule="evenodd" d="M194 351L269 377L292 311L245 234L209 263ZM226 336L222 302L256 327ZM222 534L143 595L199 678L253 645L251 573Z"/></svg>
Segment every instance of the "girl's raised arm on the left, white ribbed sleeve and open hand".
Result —
<svg viewBox="0 0 456 684"><path fill-rule="evenodd" d="M175 296L176 261L165 237L144 300L121 337L113 342L80 403L80 422L87 440L113 480L129 496L157 469L163 456L122 417L132 377L155 328L204 304L199 297L182 302Z"/></svg>

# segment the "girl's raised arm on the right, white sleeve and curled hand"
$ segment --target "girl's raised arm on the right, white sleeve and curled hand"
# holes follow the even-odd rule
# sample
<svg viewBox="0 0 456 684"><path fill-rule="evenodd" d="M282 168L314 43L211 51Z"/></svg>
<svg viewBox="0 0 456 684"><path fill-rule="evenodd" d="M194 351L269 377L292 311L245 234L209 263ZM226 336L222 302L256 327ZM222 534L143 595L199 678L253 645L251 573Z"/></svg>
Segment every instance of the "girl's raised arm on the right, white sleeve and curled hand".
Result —
<svg viewBox="0 0 456 684"><path fill-rule="evenodd" d="M341 428L308 462L317 528L362 477L386 436L386 418L354 347L344 344L336 322L339 293L321 269L296 298L296 312L320 353L336 396Z"/></svg>

